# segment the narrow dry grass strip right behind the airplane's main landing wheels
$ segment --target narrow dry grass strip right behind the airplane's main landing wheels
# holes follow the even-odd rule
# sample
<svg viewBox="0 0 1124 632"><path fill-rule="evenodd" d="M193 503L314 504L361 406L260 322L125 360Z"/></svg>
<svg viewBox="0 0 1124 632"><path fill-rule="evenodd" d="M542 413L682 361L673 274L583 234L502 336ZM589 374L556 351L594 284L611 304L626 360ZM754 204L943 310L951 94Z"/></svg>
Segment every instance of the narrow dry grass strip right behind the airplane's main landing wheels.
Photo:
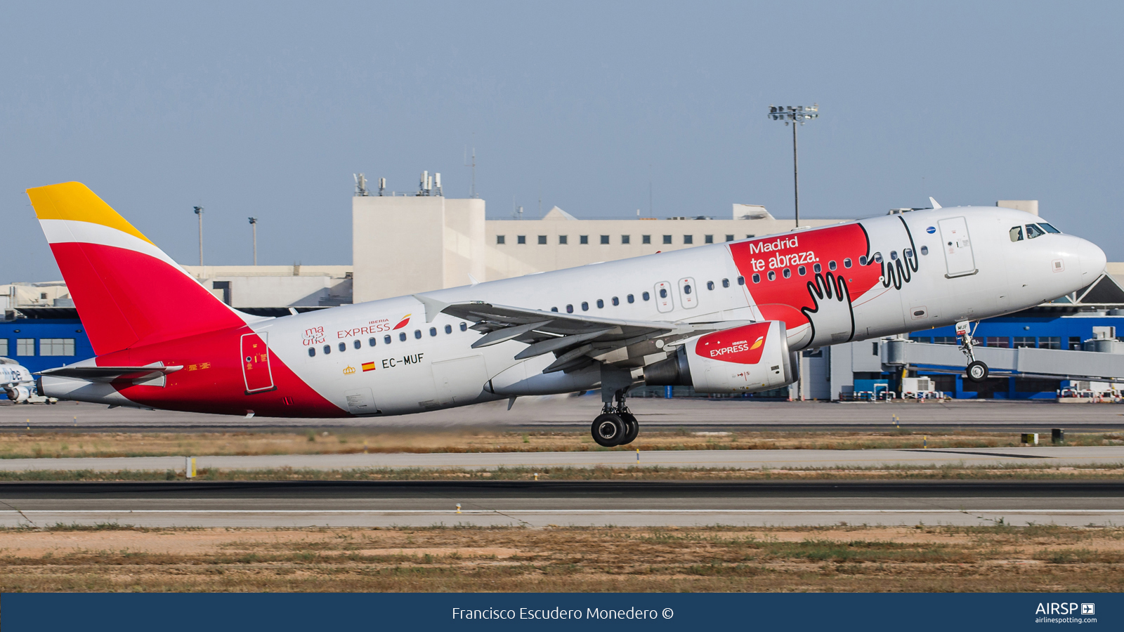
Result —
<svg viewBox="0 0 1124 632"><path fill-rule="evenodd" d="M574 452L600 450L869 450L1006 448L1015 433L957 431L940 434L886 432L643 432L626 446L601 448L588 432L10 432L0 433L0 459L60 457L169 457L250 454L345 454L356 452ZM1124 434L1067 435L1067 445L1118 445ZM1045 446L1044 446L1045 448Z"/></svg>

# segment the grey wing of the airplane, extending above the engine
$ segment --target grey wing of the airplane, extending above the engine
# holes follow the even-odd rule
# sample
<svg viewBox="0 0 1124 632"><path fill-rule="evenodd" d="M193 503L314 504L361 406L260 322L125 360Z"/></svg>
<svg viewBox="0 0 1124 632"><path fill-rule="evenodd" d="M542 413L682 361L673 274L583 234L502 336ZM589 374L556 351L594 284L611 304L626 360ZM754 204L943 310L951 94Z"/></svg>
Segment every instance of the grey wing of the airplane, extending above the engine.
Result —
<svg viewBox="0 0 1124 632"><path fill-rule="evenodd" d="M473 349L516 341L527 345L516 353L516 360L554 353L554 362L543 371L546 373L581 369L595 360L643 367L645 355L659 353L687 337L747 323L624 320L483 301L450 304L420 295L414 298L426 306L426 322L432 322L437 314L447 314L474 323L472 328L483 335L472 343Z"/></svg>

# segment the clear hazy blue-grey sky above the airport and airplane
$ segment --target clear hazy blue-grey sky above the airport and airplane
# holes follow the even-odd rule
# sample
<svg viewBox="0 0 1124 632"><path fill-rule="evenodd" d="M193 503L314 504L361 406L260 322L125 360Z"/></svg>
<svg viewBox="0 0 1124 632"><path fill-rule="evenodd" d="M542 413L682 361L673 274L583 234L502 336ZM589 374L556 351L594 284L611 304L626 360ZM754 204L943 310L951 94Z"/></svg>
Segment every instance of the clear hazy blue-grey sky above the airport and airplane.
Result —
<svg viewBox="0 0 1124 632"><path fill-rule="evenodd" d="M1124 261L1124 3L8 2L0 281L61 278L25 189L180 263L351 263L352 174L489 217L801 217L1037 199ZM471 159L470 159L471 160ZM540 202L541 200L541 202ZM541 205L541 206L540 206Z"/></svg>

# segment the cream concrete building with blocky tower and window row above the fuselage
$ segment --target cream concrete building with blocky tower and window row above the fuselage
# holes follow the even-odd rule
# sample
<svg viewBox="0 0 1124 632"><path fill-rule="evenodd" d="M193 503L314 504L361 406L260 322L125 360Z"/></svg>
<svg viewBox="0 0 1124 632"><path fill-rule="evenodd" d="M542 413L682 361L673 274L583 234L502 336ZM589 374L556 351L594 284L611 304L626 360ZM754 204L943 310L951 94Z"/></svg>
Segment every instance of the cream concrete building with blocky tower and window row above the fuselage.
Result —
<svg viewBox="0 0 1124 632"><path fill-rule="evenodd" d="M804 226L839 219L804 219ZM762 206L728 218L578 219L554 207L542 219L486 219L481 199L352 198L354 301L561 270L790 231Z"/></svg>

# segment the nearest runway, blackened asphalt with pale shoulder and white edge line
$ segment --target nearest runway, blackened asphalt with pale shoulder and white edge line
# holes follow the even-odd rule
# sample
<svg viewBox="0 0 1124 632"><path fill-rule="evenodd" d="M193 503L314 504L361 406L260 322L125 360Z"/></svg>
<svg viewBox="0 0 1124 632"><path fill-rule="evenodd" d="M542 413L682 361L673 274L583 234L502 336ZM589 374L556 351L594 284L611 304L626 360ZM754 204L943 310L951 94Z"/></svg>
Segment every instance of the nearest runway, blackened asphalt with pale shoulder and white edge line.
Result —
<svg viewBox="0 0 1124 632"><path fill-rule="evenodd" d="M1124 481L3 482L0 525L1118 525Z"/></svg>

